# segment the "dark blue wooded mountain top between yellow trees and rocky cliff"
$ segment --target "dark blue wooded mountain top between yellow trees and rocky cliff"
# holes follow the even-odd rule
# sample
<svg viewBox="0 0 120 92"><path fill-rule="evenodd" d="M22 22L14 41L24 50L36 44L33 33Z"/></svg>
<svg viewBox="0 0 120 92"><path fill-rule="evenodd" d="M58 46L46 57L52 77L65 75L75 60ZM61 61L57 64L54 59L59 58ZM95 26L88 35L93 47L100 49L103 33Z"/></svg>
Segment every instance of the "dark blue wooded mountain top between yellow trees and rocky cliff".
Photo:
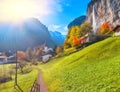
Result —
<svg viewBox="0 0 120 92"><path fill-rule="evenodd" d="M80 26L83 22L86 20L86 16L80 16L76 19L74 19L72 22L68 24L68 29L70 29L72 26Z"/></svg>

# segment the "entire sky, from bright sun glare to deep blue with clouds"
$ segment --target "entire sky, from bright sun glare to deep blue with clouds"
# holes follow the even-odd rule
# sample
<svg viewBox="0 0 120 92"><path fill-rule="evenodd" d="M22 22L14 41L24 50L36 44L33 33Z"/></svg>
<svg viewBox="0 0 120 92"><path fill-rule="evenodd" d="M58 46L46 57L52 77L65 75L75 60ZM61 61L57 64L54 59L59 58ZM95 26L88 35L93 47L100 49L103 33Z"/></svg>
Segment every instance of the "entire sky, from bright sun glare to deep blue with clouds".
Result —
<svg viewBox="0 0 120 92"><path fill-rule="evenodd" d="M86 15L90 0L0 0L0 21L35 17L50 31L67 34L67 25Z"/></svg>

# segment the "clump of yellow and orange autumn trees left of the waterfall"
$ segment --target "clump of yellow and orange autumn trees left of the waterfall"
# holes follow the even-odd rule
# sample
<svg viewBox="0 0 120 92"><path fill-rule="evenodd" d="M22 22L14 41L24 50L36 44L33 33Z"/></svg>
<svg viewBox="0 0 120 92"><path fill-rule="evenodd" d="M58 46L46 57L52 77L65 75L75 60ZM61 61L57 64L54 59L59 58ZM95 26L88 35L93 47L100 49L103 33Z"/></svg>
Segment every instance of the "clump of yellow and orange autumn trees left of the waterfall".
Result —
<svg viewBox="0 0 120 92"><path fill-rule="evenodd" d="M83 23L81 26L73 26L68 30L66 40L64 42L64 49L81 45L81 37L92 30L92 25L88 22Z"/></svg>

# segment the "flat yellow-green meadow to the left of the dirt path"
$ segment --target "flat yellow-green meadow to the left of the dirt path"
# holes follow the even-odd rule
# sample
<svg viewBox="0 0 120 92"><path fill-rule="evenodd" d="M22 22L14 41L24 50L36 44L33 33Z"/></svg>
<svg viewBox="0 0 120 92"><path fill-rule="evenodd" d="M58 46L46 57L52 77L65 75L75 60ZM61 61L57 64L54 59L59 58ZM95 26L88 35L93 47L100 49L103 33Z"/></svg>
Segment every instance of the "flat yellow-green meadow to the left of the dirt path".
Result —
<svg viewBox="0 0 120 92"><path fill-rule="evenodd" d="M4 65L4 69L8 67L12 67L14 65L9 64L9 65ZM3 69L3 65L0 66L0 69ZM11 68L9 68L11 69ZM6 74L6 73L4 73ZM20 92L19 89L14 88L14 78L15 76L12 76L12 80L6 83L0 84L0 92ZM26 73L26 74L18 74L18 85L20 88L23 90L23 92L29 92L30 88L34 82L34 80L38 77L38 70L37 69L32 69L31 72Z"/></svg>

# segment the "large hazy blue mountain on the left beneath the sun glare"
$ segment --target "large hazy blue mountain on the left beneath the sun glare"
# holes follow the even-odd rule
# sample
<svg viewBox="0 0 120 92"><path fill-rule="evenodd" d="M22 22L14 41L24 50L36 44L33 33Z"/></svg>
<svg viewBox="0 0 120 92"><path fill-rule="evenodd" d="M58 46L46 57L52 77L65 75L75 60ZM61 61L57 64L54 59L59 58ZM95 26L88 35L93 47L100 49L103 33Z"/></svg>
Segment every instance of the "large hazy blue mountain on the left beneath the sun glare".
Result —
<svg viewBox="0 0 120 92"><path fill-rule="evenodd" d="M19 23L0 23L0 51L26 50L43 43L55 47L48 28L35 18Z"/></svg>

